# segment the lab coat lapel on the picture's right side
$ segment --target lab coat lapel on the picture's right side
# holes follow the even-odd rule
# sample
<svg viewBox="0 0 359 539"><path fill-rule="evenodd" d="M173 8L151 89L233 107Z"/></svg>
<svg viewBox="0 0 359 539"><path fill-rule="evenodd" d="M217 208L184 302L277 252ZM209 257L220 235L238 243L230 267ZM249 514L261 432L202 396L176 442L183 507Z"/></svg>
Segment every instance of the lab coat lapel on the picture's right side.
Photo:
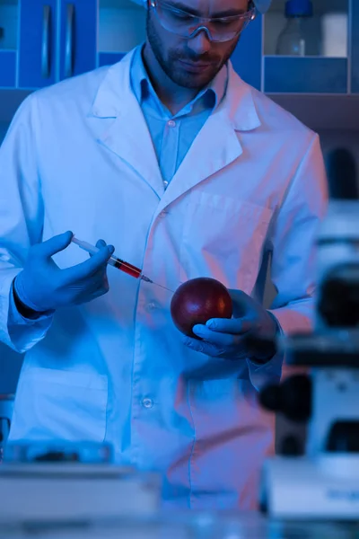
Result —
<svg viewBox="0 0 359 539"><path fill-rule="evenodd" d="M226 96L198 133L162 197L158 212L242 154L239 132L260 126L252 90L229 64Z"/></svg>

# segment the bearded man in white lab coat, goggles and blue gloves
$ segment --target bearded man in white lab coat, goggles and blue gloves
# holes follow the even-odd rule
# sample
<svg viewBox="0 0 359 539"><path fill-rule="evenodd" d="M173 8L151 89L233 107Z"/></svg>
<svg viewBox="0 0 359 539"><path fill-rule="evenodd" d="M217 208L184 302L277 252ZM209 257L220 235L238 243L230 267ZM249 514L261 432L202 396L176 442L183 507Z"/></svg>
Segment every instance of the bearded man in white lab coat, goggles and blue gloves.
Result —
<svg viewBox="0 0 359 539"><path fill-rule="evenodd" d="M143 46L32 93L1 147L0 336L26 352L10 439L105 440L163 473L169 506L256 508L274 446L258 389L283 358L242 335L311 328L320 141L234 72L248 0L147 7ZM112 245L172 290L219 279L233 319L185 338L170 292L107 266Z"/></svg>

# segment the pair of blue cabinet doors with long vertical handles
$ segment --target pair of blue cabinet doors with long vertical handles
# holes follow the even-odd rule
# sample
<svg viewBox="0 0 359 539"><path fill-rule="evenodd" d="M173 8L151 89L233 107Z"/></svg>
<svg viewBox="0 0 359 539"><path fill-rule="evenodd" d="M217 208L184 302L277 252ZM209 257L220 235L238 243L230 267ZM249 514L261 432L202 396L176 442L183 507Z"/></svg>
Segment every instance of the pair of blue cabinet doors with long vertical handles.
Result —
<svg viewBox="0 0 359 539"><path fill-rule="evenodd" d="M41 88L96 64L96 0L22 0L20 88Z"/></svg>

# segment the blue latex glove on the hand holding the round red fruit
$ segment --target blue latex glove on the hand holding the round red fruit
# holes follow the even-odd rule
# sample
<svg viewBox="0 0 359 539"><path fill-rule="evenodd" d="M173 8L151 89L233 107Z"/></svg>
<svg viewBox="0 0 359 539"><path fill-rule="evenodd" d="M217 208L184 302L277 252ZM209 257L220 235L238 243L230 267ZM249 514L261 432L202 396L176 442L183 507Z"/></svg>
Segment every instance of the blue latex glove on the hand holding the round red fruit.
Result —
<svg viewBox="0 0 359 539"><path fill-rule="evenodd" d="M184 343L190 348L213 358L245 359L250 358L265 363L273 358L276 350L263 350L263 347L248 349L243 336L254 334L259 338L275 340L279 324L252 297L241 290L230 290L233 303L231 319L214 318L206 325L196 325L193 332L201 340L186 337Z"/></svg>

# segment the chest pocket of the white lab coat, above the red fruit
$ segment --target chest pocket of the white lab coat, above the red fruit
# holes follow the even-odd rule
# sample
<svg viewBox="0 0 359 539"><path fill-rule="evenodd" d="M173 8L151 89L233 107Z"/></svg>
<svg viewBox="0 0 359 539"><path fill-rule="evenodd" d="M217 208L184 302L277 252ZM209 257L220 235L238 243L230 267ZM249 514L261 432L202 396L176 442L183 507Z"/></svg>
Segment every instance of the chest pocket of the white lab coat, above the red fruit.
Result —
<svg viewBox="0 0 359 539"><path fill-rule="evenodd" d="M210 276L250 294L273 211L250 201L193 191L181 244L181 282Z"/></svg>

